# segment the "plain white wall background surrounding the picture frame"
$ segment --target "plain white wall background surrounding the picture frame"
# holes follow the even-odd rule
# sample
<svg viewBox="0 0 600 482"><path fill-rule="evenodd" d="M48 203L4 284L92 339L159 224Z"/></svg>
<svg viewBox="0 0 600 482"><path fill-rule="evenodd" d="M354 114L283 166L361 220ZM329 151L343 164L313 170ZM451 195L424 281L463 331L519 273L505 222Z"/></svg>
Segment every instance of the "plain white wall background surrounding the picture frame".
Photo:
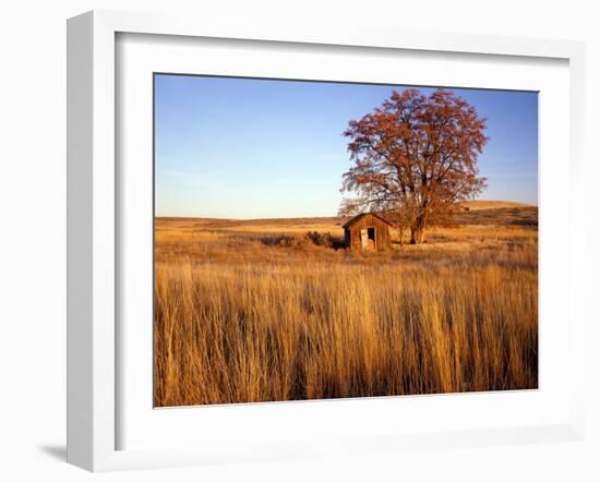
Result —
<svg viewBox="0 0 600 482"><path fill-rule="evenodd" d="M103 480L600 479L600 15L595 2L502 0L21 0L0 7L0 480L91 480L64 463L65 19L92 9L267 16L273 22L586 40L589 434L586 443L411 453L395 459L312 460L99 475ZM96 475L98 477L98 475Z"/></svg>

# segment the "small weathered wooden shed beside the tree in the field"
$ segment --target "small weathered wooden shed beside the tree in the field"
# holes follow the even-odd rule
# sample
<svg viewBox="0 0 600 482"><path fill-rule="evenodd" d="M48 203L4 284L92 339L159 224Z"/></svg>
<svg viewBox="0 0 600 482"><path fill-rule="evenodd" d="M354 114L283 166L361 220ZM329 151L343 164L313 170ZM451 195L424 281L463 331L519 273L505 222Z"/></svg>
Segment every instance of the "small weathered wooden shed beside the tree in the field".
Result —
<svg viewBox="0 0 600 482"><path fill-rule="evenodd" d="M352 251L392 249L392 225L374 213L363 213L344 225L346 245Z"/></svg>

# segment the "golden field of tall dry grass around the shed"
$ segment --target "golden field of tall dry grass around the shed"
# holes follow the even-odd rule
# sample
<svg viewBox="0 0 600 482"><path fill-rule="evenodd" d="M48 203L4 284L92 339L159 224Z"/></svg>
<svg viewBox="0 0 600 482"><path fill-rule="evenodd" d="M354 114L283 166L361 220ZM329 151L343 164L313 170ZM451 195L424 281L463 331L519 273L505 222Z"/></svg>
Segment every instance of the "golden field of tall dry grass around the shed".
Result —
<svg viewBox="0 0 600 482"><path fill-rule="evenodd" d="M339 218L156 218L155 406L536 388L537 207L484 203L384 253Z"/></svg>

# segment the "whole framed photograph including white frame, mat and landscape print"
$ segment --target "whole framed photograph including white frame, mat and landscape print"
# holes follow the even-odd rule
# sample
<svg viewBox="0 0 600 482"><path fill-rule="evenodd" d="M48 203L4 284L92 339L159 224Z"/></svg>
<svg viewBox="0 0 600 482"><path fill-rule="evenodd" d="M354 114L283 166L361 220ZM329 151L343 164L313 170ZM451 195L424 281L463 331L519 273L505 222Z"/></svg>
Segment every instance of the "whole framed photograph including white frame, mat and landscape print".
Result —
<svg viewBox="0 0 600 482"><path fill-rule="evenodd" d="M583 437L580 44L91 12L68 50L70 462Z"/></svg>

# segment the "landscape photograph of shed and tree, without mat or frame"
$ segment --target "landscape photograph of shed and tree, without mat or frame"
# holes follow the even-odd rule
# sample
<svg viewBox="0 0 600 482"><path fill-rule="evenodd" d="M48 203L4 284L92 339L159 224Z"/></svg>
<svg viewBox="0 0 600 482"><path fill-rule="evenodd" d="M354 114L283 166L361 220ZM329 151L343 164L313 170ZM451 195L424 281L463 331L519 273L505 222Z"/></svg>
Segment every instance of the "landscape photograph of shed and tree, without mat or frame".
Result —
<svg viewBox="0 0 600 482"><path fill-rule="evenodd" d="M153 75L155 408L538 388L538 92Z"/></svg>

